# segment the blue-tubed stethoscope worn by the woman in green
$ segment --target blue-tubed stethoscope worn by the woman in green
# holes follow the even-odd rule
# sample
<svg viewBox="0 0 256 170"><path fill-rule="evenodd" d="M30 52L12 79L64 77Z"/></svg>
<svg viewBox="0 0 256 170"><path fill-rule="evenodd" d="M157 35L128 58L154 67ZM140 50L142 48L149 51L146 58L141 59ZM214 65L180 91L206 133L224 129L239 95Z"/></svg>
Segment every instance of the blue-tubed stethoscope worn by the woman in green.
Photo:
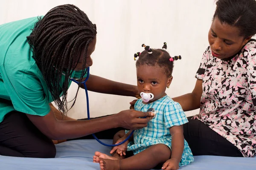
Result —
<svg viewBox="0 0 256 170"><path fill-rule="evenodd" d="M89 78L89 75L90 75L90 67L87 67L87 68L86 68L85 73L87 73L87 76L86 76L85 80L82 81L81 83L84 85L84 91L85 91L86 103L87 103L87 118L88 118L88 120L90 120L89 97L88 97L88 91L87 91L87 86L86 86L86 82L87 82L87 80L88 80L88 78ZM65 74L63 73L63 75L65 75ZM78 79L70 78L70 80L73 81L73 82L75 82L77 85L80 84L80 82L77 81ZM154 108L149 108L149 109L148 109L148 112L156 113L156 111L154 110ZM143 118L145 118L145 117L143 117ZM118 145L120 145L120 144L125 143L125 142L132 136L133 133L134 133L134 130L132 130L132 132L130 133L130 135L129 135L124 141L122 141L122 142L120 142L120 143L118 143L118 144L105 144L105 143L101 142L101 141L94 135L94 133L92 134L92 136L93 136L94 139L96 139L96 141L98 141L100 144L103 144L103 145L108 146L108 147L114 147L114 146L118 146Z"/></svg>

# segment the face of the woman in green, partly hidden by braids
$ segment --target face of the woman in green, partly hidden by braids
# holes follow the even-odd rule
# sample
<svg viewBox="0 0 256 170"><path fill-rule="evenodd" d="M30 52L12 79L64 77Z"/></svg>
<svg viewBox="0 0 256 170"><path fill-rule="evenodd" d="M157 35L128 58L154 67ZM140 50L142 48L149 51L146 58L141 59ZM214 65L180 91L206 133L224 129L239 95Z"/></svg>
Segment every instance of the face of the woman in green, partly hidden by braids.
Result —
<svg viewBox="0 0 256 170"><path fill-rule="evenodd" d="M90 67L93 65L93 59L91 58L91 54L95 50L96 46L96 37L90 42L88 50L87 50L87 59L85 67ZM84 48L81 51L80 59L78 64L76 65L75 71L81 71L83 69L83 57L84 57Z"/></svg>

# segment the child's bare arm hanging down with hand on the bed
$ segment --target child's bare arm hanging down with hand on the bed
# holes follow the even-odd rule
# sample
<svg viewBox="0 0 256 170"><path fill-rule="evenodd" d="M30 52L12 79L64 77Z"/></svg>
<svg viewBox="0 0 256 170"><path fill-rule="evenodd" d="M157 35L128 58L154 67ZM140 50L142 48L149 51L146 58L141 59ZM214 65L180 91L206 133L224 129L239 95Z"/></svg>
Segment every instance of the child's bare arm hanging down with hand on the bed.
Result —
<svg viewBox="0 0 256 170"><path fill-rule="evenodd" d="M172 135L172 154L171 159L163 164L163 169L177 170L184 150L183 126L173 126L169 130Z"/></svg>

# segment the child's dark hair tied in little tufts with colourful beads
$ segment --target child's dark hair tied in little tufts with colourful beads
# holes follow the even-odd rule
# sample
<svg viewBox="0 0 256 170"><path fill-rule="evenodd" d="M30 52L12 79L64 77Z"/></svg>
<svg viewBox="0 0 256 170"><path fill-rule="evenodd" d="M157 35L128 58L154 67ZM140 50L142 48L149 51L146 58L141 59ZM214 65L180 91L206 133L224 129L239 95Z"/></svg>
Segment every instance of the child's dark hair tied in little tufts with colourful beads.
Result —
<svg viewBox="0 0 256 170"><path fill-rule="evenodd" d="M134 60L139 57L136 62L136 67L140 67L141 65L158 65L160 68L164 68L167 77L172 76L173 61L181 59L181 56L171 57L170 54L166 51L166 42L163 44L164 45L162 49L152 49L150 46L143 44L142 47L144 47L145 50L141 53L137 52L134 54Z"/></svg>

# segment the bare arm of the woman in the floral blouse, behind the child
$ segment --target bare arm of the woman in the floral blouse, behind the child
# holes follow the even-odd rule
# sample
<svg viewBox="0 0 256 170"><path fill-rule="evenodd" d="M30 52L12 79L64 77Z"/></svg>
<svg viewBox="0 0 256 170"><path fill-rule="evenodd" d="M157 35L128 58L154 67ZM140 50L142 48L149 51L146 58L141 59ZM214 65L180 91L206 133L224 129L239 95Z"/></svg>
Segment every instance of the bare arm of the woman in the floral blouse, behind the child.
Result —
<svg viewBox="0 0 256 170"><path fill-rule="evenodd" d="M192 93L172 98L175 102L180 103L183 111L192 111L200 108L200 100L203 93L202 80L197 79L195 88Z"/></svg>

